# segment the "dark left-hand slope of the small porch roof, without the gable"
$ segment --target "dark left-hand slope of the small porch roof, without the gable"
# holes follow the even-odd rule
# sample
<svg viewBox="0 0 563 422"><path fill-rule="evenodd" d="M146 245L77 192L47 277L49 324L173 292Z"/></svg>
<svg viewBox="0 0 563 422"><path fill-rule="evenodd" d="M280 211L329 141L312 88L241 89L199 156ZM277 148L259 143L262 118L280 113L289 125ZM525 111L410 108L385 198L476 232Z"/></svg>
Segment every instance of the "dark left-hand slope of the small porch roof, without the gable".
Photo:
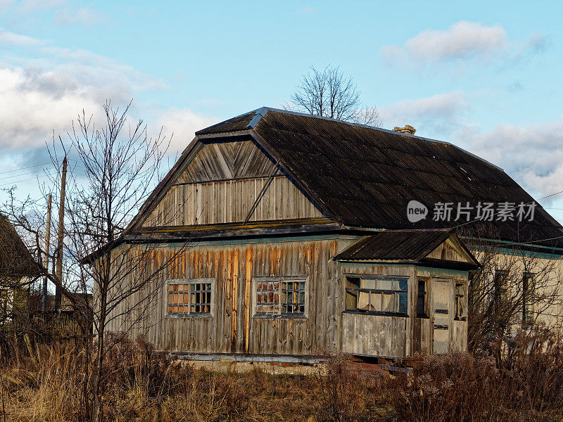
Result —
<svg viewBox="0 0 563 422"><path fill-rule="evenodd" d="M438 248L450 231L388 231L365 236L343 250L334 259L355 260L422 260Z"/></svg>

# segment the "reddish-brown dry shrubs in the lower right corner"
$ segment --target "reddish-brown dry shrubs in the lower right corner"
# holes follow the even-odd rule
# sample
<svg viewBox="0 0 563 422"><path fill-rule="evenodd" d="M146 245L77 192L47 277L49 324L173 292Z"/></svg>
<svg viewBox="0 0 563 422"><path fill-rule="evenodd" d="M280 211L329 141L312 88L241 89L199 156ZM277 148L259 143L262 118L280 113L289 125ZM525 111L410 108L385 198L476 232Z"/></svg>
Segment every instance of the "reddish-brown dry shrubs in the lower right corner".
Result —
<svg viewBox="0 0 563 422"><path fill-rule="evenodd" d="M398 381L393 408L404 421L553 420L563 403L562 343L521 331L511 359L452 353L426 357Z"/></svg>

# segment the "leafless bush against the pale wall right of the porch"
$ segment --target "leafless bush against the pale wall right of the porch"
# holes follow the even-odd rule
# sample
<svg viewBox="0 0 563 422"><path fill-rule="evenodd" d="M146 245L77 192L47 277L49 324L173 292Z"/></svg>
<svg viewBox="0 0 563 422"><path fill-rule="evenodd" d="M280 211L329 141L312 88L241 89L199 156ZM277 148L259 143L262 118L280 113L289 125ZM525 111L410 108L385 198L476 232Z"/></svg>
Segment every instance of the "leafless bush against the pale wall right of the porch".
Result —
<svg viewBox="0 0 563 422"><path fill-rule="evenodd" d="M484 227L462 236L481 263L469 281L468 347L500 360L517 331L557 323L554 312L563 304L559 261L518 243L494 241L498 236Z"/></svg>

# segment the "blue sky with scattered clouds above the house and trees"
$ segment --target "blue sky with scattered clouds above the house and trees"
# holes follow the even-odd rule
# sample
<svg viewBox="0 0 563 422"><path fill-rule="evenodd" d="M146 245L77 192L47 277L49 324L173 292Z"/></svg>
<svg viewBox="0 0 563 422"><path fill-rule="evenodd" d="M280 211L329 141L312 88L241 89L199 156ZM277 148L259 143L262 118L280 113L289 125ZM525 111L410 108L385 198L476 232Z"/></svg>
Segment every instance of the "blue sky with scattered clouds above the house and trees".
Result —
<svg viewBox="0 0 563 422"><path fill-rule="evenodd" d="M563 191L562 12L556 1L0 0L0 185L34 177L6 172L48 161L53 130L105 98L134 98L134 117L174 133L174 155L201 127L283 106L308 66L332 63L381 126L462 146L536 198ZM542 202L558 219L562 197Z"/></svg>

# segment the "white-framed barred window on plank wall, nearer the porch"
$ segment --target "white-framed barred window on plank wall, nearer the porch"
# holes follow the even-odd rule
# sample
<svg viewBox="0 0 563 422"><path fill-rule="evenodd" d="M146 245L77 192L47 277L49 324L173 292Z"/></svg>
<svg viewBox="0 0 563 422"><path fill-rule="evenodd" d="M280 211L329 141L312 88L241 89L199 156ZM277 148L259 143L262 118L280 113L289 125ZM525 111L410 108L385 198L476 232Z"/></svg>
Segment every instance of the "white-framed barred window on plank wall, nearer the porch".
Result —
<svg viewBox="0 0 563 422"><path fill-rule="evenodd" d="M304 316L307 280L284 277L255 279L257 316Z"/></svg>

